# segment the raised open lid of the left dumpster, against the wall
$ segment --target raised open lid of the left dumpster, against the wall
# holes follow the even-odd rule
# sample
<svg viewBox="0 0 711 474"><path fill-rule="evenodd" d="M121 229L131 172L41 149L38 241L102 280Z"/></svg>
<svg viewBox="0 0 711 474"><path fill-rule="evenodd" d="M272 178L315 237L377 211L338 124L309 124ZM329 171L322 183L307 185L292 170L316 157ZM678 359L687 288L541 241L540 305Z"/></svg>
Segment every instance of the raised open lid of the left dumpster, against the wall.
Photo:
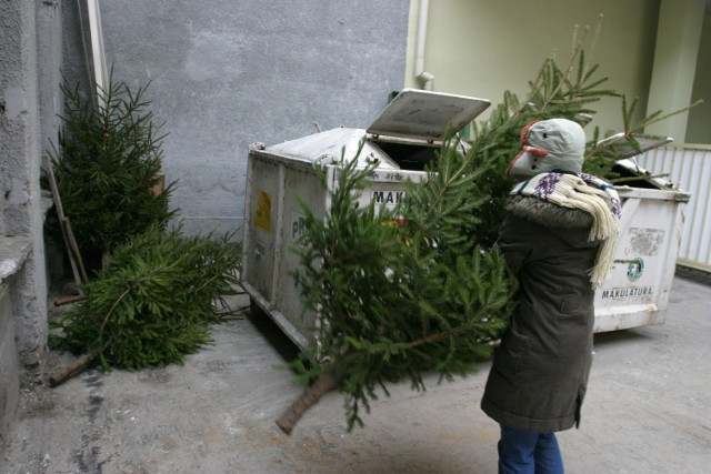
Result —
<svg viewBox="0 0 711 474"><path fill-rule="evenodd" d="M385 135L442 140L447 130L461 130L491 102L465 95L403 89L390 101L367 132Z"/></svg>

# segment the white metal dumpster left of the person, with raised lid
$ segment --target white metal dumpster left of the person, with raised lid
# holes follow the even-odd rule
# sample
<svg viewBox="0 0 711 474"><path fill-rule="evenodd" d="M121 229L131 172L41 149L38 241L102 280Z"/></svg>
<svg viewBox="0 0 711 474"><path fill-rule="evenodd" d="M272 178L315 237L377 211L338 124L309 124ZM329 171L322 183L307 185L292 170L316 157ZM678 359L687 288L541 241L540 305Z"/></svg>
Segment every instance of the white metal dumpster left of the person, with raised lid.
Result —
<svg viewBox="0 0 711 474"><path fill-rule="evenodd" d="M378 163L360 201L394 205L404 198L407 180L424 178L422 170L448 130L460 130L489 105L483 99L405 89L367 130L338 128L270 147L252 144L241 275L252 310L269 315L298 346L310 346L318 321L303 314L290 274L299 262L289 249L306 224L297 196L314 215L326 215L339 163L358 160L362 168ZM327 189L314 173L317 164L324 169Z"/></svg>

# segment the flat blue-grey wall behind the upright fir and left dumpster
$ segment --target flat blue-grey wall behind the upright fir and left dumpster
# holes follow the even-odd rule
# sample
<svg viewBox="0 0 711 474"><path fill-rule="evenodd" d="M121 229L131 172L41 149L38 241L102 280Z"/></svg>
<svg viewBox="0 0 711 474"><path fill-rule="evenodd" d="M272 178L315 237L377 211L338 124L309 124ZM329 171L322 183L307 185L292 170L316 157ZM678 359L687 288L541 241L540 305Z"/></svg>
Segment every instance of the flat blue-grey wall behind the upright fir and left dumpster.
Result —
<svg viewBox="0 0 711 474"><path fill-rule="evenodd" d="M186 231L241 228L250 143L368 127L403 85L408 11L401 0L101 1L116 79L151 81Z"/></svg>

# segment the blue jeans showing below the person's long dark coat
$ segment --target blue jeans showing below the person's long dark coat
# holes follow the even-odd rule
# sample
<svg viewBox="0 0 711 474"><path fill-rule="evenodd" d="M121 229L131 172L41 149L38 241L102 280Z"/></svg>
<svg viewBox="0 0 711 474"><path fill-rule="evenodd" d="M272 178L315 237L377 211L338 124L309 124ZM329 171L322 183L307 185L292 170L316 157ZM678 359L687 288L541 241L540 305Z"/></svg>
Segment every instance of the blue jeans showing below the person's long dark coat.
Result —
<svg viewBox="0 0 711 474"><path fill-rule="evenodd" d="M563 474L553 433L533 433L501 425L499 474Z"/></svg>

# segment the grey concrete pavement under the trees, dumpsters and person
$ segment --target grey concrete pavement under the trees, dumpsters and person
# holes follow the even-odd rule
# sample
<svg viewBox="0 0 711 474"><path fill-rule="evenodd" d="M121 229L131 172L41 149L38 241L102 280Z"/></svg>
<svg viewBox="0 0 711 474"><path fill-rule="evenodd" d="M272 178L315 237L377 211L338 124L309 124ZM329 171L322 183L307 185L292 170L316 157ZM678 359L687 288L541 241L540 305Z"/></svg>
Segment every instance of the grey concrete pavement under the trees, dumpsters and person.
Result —
<svg viewBox="0 0 711 474"><path fill-rule="evenodd" d="M710 304L711 278L680 270L665 324L595 335L582 425L559 435L568 473L711 473ZM26 390L0 473L497 471L498 426L479 410L489 364L424 393L394 386L351 433L328 394L287 436L274 420L300 387L274 366L293 347L269 322L213 333L183 366Z"/></svg>

